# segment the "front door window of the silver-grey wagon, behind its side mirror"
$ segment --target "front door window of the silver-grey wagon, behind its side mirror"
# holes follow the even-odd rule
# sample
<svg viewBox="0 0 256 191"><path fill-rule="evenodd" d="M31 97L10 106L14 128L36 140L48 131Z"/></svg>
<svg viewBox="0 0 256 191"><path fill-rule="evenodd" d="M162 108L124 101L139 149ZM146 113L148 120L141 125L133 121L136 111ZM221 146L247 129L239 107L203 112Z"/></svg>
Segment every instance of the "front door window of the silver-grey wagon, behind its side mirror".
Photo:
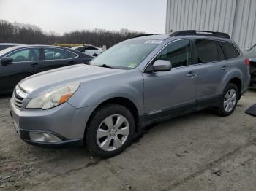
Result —
<svg viewBox="0 0 256 191"><path fill-rule="evenodd" d="M156 60L170 61L173 68L191 64L192 56L189 40L178 40L168 44L154 59L154 61Z"/></svg>

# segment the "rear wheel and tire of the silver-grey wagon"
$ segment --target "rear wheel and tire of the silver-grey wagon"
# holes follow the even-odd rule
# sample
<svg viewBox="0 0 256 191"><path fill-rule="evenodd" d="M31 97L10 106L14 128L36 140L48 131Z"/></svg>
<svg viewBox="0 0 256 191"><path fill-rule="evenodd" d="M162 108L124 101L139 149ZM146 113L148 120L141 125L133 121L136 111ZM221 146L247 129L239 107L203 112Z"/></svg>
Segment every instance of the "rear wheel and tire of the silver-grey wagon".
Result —
<svg viewBox="0 0 256 191"><path fill-rule="evenodd" d="M234 94L231 95L230 93L234 93ZM236 93L235 99L229 97L229 95L231 95L231 97L235 96L235 93ZM223 91L222 98L219 101L219 106L214 108L215 113L222 117L226 117L232 114L233 111L236 109L238 97L239 97L238 87L232 83L227 84L227 86L225 87L225 90Z"/></svg>

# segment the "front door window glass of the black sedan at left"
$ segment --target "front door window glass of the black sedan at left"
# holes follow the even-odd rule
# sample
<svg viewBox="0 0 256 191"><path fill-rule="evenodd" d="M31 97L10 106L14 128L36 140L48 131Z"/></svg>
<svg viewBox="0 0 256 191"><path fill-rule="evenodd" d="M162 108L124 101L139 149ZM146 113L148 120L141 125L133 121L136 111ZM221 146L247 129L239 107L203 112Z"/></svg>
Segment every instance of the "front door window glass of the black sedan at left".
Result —
<svg viewBox="0 0 256 191"><path fill-rule="evenodd" d="M14 62L39 61L39 49L29 48L18 50L7 56L12 58Z"/></svg>

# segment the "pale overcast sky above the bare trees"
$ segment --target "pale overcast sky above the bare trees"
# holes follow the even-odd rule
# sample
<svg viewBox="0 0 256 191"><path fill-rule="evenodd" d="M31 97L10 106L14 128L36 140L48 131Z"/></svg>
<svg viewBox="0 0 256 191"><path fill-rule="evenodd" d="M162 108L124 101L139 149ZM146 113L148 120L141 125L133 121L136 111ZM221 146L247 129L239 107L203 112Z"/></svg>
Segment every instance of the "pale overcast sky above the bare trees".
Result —
<svg viewBox="0 0 256 191"><path fill-rule="evenodd" d="M127 28L165 33L167 0L0 0L0 19L45 32Z"/></svg>

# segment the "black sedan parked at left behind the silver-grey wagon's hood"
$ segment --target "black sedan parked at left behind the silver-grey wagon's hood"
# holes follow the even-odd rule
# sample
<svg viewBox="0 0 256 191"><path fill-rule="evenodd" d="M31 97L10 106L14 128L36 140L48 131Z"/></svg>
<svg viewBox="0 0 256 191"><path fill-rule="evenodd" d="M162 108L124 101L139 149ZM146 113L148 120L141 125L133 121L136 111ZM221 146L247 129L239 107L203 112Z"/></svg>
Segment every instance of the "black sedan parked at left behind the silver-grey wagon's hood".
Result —
<svg viewBox="0 0 256 191"><path fill-rule="evenodd" d="M93 57L65 47L20 45L0 51L0 93L12 93L21 79L42 71L88 63Z"/></svg>

